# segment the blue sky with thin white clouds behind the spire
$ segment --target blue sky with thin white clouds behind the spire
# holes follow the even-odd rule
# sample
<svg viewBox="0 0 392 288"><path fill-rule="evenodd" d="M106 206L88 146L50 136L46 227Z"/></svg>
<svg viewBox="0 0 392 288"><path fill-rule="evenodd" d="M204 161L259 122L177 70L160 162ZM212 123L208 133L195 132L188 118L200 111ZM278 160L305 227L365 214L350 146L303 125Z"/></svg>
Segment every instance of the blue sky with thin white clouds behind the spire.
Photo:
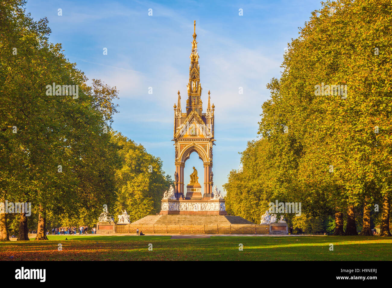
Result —
<svg viewBox="0 0 392 288"><path fill-rule="evenodd" d="M279 78L287 43L320 7L317 0L29 0L26 5L34 20L48 18L50 41L62 43L67 58L89 79L117 87L120 113L114 116L114 130L160 157L172 177L173 105L180 90L185 112L196 20L201 98L207 105L210 90L215 105L214 185L222 194L230 170L239 167L238 152L258 137L261 105L269 98L265 85ZM192 166L203 175L203 162L192 153L185 163L185 181Z"/></svg>

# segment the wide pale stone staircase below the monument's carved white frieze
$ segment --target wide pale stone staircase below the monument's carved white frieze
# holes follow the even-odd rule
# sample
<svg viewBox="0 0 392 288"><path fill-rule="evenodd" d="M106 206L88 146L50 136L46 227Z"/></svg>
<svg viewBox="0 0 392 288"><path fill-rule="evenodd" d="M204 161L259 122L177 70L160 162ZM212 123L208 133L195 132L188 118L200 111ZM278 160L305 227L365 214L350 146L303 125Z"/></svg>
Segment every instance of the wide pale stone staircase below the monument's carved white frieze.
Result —
<svg viewBox="0 0 392 288"><path fill-rule="evenodd" d="M238 224L254 223L243 219L240 216L223 215L157 215L145 216L132 223L132 225L220 225L230 226Z"/></svg>

